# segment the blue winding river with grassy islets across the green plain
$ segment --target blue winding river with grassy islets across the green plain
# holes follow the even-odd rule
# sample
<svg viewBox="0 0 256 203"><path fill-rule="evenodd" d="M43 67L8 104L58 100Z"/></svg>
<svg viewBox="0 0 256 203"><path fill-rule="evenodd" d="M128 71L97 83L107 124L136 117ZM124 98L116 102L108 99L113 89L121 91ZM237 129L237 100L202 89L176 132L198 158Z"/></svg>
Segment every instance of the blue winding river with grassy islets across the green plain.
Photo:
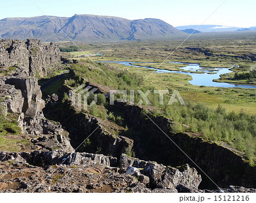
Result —
<svg viewBox="0 0 256 203"><path fill-rule="evenodd" d="M180 68L179 71L169 71L166 69L158 69L158 68L151 68L151 67L144 67L142 65L134 65L134 64L142 64L143 62L133 62L133 61L101 61L102 63L118 63L122 65L126 65L129 68L147 68L154 70L155 73L182 73L188 74L192 76L192 80L189 81L192 85L204 85L204 86L214 86L219 88L256 88L256 85L241 85L241 84L229 84L228 82L214 82L214 79L220 78L220 74L230 73L230 68L205 68L200 67L200 64L194 63L181 63L181 62L174 62L170 61L168 63L176 63L176 64L187 64L186 67ZM144 62L147 63L147 62ZM149 63L147 63L149 64ZM153 63L152 63L153 64ZM183 72L183 71L203 71L204 73L190 73L190 72ZM214 73L214 74L209 74Z"/></svg>

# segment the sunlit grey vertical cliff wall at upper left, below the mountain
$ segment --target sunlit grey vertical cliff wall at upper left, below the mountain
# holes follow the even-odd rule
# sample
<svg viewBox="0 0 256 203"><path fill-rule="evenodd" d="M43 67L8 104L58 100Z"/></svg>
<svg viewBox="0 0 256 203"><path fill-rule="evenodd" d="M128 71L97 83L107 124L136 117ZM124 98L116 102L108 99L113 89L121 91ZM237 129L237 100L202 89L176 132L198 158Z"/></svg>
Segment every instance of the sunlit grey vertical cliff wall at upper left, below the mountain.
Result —
<svg viewBox="0 0 256 203"><path fill-rule="evenodd" d="M15 67L15 76L44 77L60 68L60 51L36 39L0 40L1 67Z"/></svg>

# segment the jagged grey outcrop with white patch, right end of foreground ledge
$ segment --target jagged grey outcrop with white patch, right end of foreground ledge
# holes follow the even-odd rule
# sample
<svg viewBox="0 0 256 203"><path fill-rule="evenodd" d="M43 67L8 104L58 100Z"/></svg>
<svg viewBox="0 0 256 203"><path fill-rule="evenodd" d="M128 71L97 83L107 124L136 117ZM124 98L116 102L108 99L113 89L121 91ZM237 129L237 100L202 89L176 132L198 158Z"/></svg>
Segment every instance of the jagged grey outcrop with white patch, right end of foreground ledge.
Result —
<svg viewBox="0 0 256 203"><path fill-rule="evenodd" d="M138 177L141 183L146 183L150 188L175 190L180 184L187 188L197 190L201 183L201 175L195 168L188 164L180 167L164 166L152 161L142 161L122 155L120 168L126 173Z"/></svg>

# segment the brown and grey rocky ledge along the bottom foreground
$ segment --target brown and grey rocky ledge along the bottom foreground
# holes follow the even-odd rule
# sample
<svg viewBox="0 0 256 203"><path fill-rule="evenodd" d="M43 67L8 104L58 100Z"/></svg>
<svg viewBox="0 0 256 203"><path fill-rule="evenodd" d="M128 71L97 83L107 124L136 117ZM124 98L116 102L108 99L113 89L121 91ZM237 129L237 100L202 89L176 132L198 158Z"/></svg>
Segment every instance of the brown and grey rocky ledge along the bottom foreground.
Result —
<svg viewBox="0 0 256 203"><path fill-rule="evenodd" d="M142 168L135 174L130 165ZM180 184L203 192L200 181L188 165L172 168L126 155L118 166L117 158L101 154L0 151L0 192L179 192Z"/></svg>

